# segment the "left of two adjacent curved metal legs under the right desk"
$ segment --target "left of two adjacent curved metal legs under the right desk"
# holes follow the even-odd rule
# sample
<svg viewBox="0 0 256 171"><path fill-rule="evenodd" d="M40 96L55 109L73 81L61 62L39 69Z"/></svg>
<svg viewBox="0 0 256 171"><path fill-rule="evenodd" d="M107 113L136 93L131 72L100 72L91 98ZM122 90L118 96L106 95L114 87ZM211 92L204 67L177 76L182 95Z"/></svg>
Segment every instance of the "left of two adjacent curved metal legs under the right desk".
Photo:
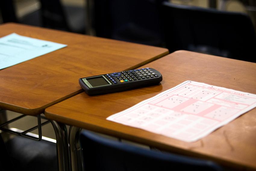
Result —
<svg viewBox="0 0 256 171"><path fill-rule="evenodd" d="M59 171L70 171L70 155L66 125L56 121L51 121L51 123L56 134L58 169Z"/></svg>

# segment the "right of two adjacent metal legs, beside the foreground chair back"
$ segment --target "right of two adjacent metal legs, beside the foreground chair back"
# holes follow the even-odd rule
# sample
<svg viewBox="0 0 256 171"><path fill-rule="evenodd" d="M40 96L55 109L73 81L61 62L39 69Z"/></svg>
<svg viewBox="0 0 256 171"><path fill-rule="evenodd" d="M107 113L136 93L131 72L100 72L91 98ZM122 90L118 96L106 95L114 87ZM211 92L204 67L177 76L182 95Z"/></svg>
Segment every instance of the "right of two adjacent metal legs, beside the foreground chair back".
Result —
<svg viewBox="0 0 256 171"><path fill-rule="evenodd" d="M80 145L80 133L82 129L74 126L69 128L69 145L72 171L83 171L83 154Z"/></svg>

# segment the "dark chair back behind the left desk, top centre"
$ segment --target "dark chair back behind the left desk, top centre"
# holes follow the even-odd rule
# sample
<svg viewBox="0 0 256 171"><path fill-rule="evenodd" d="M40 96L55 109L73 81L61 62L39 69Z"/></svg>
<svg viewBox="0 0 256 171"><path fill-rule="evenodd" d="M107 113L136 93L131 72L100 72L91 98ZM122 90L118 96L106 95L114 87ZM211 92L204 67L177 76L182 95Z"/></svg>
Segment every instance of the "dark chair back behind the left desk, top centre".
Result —
<svg viewBox="0 0 256 171"><path fill-rule="evenodd" d="M164 0L95 0L92 26L96 36L163 46L159 5Z"/></svg>

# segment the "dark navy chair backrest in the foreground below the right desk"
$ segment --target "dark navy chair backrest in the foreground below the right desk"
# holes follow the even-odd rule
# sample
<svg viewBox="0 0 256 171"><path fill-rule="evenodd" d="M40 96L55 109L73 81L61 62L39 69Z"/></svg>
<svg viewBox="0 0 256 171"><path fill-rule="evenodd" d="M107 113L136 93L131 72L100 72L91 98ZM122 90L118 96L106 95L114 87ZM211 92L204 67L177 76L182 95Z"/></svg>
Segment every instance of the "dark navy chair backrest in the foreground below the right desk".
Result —
<svg viewBox="0 0 256 171"><path fill-rule="evenodd" d="M143 149L100 137L89 131L82 131L80 140L85 170L221 170L211 161Z"/></svg>

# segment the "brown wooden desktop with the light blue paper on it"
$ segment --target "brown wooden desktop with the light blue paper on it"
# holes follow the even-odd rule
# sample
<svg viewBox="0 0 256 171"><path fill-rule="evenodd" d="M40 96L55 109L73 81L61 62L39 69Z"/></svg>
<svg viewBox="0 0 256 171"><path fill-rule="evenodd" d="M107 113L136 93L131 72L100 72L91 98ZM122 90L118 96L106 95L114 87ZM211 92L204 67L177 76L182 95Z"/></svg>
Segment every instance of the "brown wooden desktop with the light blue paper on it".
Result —
<svg viewBox="0 0 256 171"><path fill-rule="evenodd" d="M27 115L82 92L78 79L130 68L167 55L168 49L21 24L0 26L11 33L67 47L0 70L0 108Z"/></svg>

